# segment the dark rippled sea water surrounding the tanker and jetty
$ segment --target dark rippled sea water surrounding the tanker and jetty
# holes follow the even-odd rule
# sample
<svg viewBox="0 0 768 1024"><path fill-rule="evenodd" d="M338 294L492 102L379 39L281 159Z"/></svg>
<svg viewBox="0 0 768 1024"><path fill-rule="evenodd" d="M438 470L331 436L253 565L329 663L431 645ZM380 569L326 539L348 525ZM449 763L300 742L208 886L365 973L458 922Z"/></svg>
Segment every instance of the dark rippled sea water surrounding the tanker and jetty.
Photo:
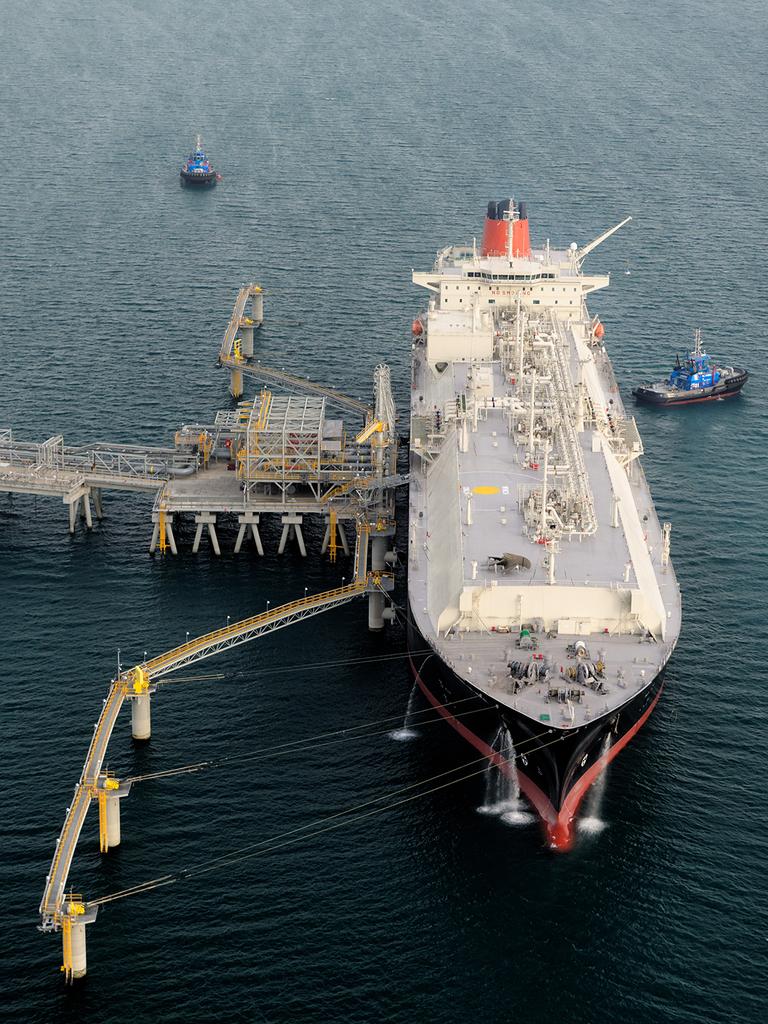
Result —
<svg viewBox="0 0 768 1024"><path fill-rule="evenodd" d="M753 379L740 399L638 410L673 524L685 624L650 723L568 855L480 815L474 777L267 856L104 908L67 989L43 882L118 647L134 664L350 574L227 552L146 554L150 502L108 496L70 538L53 499L0 496L4 994L19 1022L765 1019L766 11L760 0L4 0L0 425L167 443L226 408L215 353L238 287L269 291L265 361L408 398L412 267L471 240L485 202L612 269L591 308L626 395L695 327ZM201 131L224 180L178 165ZM625 273L630 269L631 273ZM290 321L299 319L300 326ZM404 421L402 429L404 430ZM321 746L403 713L398 629L360 602L167 686L116 771L297 741L289 757L146 782L88 897L198 864L473 759L443 725ZM353 666L352 658L370 658ZM342 663L337 665L318 663ZM275 669L294 667L290 672ZM210 667L210 668L208 668ZM461 774L461 773L460 773Z"/></svg>

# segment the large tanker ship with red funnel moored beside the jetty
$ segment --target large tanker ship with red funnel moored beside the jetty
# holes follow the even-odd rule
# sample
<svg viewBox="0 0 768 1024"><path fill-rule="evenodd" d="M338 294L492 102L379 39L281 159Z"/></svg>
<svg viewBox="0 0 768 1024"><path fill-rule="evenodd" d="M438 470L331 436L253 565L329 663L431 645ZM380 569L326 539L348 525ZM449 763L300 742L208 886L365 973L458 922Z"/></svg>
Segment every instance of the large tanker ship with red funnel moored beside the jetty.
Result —
<svg viewBox="0 0 768 1024"><path fill-rule="evenodd" d="M498 710L559 850L655 707L681 623L671 526L586 306L609 279L583 272L585 258L625 223L582 248L531 249L523 204L490 203L479 248L450 246L413 275L429 292L414 322L413 671L486 755L445 705L458 692Z"/></svg>

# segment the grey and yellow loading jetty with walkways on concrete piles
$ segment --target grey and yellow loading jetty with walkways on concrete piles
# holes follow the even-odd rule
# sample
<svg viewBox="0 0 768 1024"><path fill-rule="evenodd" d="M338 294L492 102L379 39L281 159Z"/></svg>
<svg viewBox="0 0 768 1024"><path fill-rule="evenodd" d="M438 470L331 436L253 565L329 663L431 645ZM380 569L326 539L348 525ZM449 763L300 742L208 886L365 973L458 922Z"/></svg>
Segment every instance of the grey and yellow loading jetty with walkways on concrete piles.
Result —
<svg viewBox="0 0 768 1024"><path fill-rule="evenodd" d="M252 541L263 556L260 527L264 517L272 516L282 525L278 553L292 545L307 557L302 527L314 516L325 525L319 555L335 562L341 548L353 556L351 581L341 587L318 594L304 591L295 601L227 622L224 629L187 639L126 671L119 669L110 681L39 906L39 929L61 934L61 971L68 981L86 974L86 926L96 920L104 902L89 900L70 882L88 810L94 803L98 807L98 846L109 855L120 845L120 804L131 792L130 779L104 770L123 707L131 708L133 739L147 740L152 695L163 677L179 669L361 597L368 600L371 630L384 629L394 617L388 596L396 561L394 497L407 477L397 473L389 369L376 367L369 404L264 366L254 358L254 335L263 321L261 287L244 286L218 353L219 366L229 372L229 393L237 404L210 420L183 424L172 445L70 445L62 435L36 442L16 439L10 429L0 430L0 493L60 500L68 507L73 534L81 524L90 529L94 519L102 518L104 492L128 490L147 496L153 554L176 555L177 524L191 517L194 552L207 535L212 552L220 555L217 525L237 518L234 552ZM243 398L246 379L261 384L253 399Z"/></svg>

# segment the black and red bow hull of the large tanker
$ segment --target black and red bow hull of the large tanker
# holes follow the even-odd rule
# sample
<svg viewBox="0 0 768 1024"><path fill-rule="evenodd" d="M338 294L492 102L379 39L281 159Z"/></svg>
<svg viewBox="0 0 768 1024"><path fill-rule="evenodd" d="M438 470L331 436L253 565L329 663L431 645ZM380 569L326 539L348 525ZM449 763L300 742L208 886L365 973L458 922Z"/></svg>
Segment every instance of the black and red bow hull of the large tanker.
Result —
<svg viewBox="0 0 768 1024"><path fill-rule="evenodd" d="M572 729L538 725L525 715L497 705L487 694L461 679L434 653L423 653L428 645L409 625L409 649L414 678L426 699L465 739L481 754L493 758L500 770L512 770L481 736L455 717L450 707L458 697L477 696L494 709L509 728L517 754L517 776L521 793L536 809L553 850L573 845L579 807L587 791L610 761L629 743L647 721L664 688L664 674L640 690L623 708L595 722ZM422 653L415 653L421 651ZM553 705L553 714L559 706ZM506 765L506 769L505 769Z"/></svg>

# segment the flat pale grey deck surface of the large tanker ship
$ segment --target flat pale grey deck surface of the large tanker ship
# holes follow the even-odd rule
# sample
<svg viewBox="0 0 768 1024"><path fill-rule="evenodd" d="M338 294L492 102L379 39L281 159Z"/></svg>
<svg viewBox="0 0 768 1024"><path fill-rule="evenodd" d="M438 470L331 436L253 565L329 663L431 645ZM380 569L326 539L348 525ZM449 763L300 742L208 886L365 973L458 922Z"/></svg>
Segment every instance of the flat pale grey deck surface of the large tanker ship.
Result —
<svg viewBox="0 0 768 1024"><path fill-rule="evenodd" d="M571 349L569 373L571 382L578 379L579 352L575 335L568 330ZM595 370L593 395L601 413L610 414L616 430L628 443L639 443L634 421L628 420L618 395L610 360L602 346L592 350ZM527 437L518 441L510 436L501 408L505 396L514 394L514 385L505 381L500 361L486 364L492 371L493 399L477 421L477 428L468 434L468 451L461 451L460 428L442 424L430 426L428 410L445 408L455 395L467 389L470 365L453 362L447 372L434 375L426 364L425 348L417 343L414 352L413 436L421 449L430 449L429 457L412 461L411 537L409 594L414 621L435 653L460 678L484 693L489 699L520 712L537 723L547 723L557 729L569 729L612 714L632 700L664 669L680 630L681 605L677 580L671 565L663 564L663 531L653 501L639 461L628 474L631 500L637 509L642 529L641 543L650 556L652 573L667 609L667 637L654 639L641 632L599 632L582 636L557 635L538 630L532 649L519 646L518 626L467 629L458 624L436 628L435 608L430 606L430 587L435 577L444 571L451 559L461 559L464 588L547 586L549 568L547 548L529 537L522 513L522 501L543 481L541 456L539 468L525 466ZM423 397L422 397L423 395ZM496 404L495 404L496 401ZM425 415L426 414L426 415ZM563 537L555 556L557 587L608 588L627 591L638 588L633 559L625 529L611 525L613 486L606 455L601 444L593 451L593 429L580 431L578 443L588 477L594 504L597 529L581 539ZM439 436L438 436L439 435ZM456 550L447 551L437 543L439 529L435 516L449 514L450 497L436 505L430 496L430 473L434 462L446 447L453 449L458 467L459 514ZM445 453L447 454L447 453ZM452 456L453 458L453 456ZM622 470L624 472L624 470ZM556 486L554 476L548 486ZM468 503L471 502L471 515ZM456 513L454 513L456 514ZM431 518L430 518L431 517ZM615 520L614 520L615 521ZM432 535L436 530L436 538ZM489 566L489 556L505 553L521 555L530 562L529 568L504 570ZM592 685L579 684L568 676L579 659L572 653L574 642L582 641L588 656L605 665L604 676ZM568 648L571 647L569 653ZM511 662L539 666L547 664L549 675L543 681L515 680L509 671Z"/></svg>

